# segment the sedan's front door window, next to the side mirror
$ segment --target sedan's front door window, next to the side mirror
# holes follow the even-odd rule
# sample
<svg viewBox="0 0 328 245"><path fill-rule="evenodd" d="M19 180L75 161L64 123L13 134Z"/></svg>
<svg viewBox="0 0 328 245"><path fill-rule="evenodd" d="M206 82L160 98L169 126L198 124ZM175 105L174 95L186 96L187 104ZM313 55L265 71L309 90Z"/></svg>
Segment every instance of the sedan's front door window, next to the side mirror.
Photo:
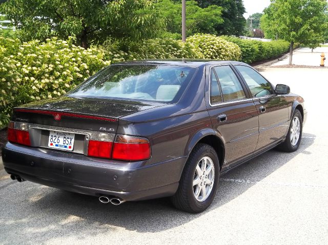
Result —
<svg viewBox="0 0 328 245"><path fill-rule="evenodd" d="M241 73L245 79L247 85L250 87L251 93L254 97L263 97L266 95L272 95L272 87L270 82L265 80L260 74L254 71L252 68L244 65L235 65L237 70Z"/></svg>

